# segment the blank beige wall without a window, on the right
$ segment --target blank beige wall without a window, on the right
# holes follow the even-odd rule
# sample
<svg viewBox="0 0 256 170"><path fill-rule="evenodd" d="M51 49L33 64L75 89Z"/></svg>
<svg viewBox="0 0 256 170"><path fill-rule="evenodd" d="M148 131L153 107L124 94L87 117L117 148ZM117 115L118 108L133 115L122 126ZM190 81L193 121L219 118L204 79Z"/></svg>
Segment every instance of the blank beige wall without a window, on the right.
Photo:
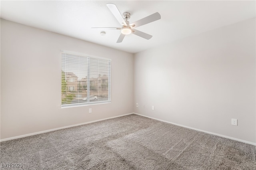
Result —
<svg viewBox="0 0 256 170"><path fill-rule="evenodd" d="M255 30L253 18L136 53L134 112L256 143Z"/></svg>

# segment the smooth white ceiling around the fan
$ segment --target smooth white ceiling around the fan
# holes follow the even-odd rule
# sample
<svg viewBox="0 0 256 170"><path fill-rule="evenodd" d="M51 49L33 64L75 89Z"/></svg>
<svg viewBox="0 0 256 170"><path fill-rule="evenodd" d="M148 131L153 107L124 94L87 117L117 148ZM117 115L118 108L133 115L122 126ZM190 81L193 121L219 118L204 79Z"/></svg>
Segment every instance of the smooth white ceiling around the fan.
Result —
<svg viewBox="0 0 256 170"><path fill-rule="evenodd" d="M1 18L88 42L136 53L164 43L254 18L256 1L1 1ZM107 3L120 13L130 12L130 23L159 12L161 19L136 28L152 35L134 34L116 43L120 27ZM100 32L105 31L106 36Z"/></svg>

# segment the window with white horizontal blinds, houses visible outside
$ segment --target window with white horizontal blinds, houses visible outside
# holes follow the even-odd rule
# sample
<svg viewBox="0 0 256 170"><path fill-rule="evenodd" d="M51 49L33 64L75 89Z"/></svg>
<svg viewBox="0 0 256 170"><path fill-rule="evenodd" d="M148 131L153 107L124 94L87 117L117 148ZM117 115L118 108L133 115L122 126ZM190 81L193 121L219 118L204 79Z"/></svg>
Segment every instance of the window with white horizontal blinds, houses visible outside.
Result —
<svg viewBox="0 0 256 170"><path fill-rule="evenodd" d="M62 53L62 107L110 103L111 60Z"/></svg>

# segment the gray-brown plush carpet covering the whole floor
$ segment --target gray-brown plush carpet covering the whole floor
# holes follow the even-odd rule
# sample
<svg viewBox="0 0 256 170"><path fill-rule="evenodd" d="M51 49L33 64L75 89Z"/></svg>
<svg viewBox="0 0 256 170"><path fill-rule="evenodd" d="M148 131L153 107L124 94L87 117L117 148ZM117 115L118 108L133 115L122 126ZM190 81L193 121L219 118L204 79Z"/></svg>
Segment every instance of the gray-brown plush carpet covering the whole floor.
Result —
<svg viewBox="0 0 256 170"><path fill-rule="evenodd" d="M0 151L3 170L256 170L256 146L138 115L1 142Z"/></svg>

